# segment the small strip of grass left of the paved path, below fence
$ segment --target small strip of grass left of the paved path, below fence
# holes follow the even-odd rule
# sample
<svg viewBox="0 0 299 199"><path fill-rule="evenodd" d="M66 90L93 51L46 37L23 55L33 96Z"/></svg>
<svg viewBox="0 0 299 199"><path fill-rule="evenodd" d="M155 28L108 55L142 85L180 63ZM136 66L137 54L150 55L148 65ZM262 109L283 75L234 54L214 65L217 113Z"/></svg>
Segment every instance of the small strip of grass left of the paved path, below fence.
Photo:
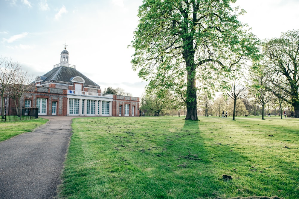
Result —
<svg viewBox="0 0 299 199"><path fill-rule="evenodd" d="M43 118L21 120L13 122L0 122L0 142L22 133L31 132L45 124L48 120Z"/></svg>

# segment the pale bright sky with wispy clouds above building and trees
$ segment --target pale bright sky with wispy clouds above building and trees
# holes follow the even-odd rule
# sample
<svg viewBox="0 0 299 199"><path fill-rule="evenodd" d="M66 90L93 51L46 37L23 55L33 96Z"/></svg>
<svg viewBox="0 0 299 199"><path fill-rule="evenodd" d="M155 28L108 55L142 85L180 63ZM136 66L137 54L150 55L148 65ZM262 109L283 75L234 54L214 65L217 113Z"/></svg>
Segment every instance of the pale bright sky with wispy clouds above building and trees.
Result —
<svg viewBox="0 0 299 199"><path fill-rule="evenodd" d="M130 63L128 48L142 0L0 0L0 57L20 63L35 78L60 63L65 44L70 64L100 85L141 97L147 82ZM258 38L299 29L299 0L237 0L239 20ZM103 90L102 90L103 91Z"/></svg>

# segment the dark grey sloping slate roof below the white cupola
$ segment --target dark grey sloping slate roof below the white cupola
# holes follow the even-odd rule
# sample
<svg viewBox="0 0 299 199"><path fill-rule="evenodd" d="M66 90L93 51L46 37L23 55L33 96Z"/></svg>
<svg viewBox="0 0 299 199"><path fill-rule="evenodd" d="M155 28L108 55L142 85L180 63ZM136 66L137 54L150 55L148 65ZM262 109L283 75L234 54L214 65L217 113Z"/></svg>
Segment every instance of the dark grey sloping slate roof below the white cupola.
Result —
<svg viewBox="0 0 299 199"><path fill-rule="evenodd" d="M44 83L47 81L60 81L60 82L66 82L70 84L73 84L71 78L77 76L82 77L85 80L84 85L96 86L100 88L99 85L91 81L84 74L80 73L76 69L65 67L65 66L54 68L51 71L47 72L46 74L42 75L42 77L46 77L43 80Z"/></svg>

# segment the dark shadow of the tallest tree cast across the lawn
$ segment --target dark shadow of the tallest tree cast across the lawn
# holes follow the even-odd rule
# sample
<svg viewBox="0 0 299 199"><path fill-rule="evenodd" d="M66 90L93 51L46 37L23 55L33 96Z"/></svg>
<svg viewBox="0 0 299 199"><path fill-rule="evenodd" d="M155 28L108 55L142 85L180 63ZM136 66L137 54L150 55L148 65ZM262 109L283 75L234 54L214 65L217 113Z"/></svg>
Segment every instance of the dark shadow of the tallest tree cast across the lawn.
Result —
<svg viewBox="0 0 299 199"><path fill-rule="evenodd" d="M220 135L215 135L216 132L200 130L207 125L210 124L185 121L181 130L186 138L190 137L180 143L181 153L186 155L180 156L179 161L180 165L183 165L181 172L188 170L194 177L193 181L196 181L195 184L187 181L188 186L193 185L189 186L193 189L192 192L198 191L198 197L211 198L279 194L273 194L273 182L267 181L267 174L260 172L256 160L251 155L239 153L229 142L218 142L217 136ZM183 136L181 137L183 139Z"/></svg>

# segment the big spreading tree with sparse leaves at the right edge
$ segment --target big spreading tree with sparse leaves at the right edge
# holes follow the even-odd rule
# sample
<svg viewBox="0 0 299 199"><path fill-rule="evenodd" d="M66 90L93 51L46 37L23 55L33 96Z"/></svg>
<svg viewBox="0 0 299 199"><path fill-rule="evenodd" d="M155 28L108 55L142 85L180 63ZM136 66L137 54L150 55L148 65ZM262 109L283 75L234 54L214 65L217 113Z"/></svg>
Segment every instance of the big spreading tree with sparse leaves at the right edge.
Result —
<svg viewBox="0 0 299 199"><path fill-rule="evenodd" d="M263 48L268 72L272 74L271 82L279 88L272 92L290 103L294 117L299 118L299 30L282 33L281 38L267 41Z"/></svg>

